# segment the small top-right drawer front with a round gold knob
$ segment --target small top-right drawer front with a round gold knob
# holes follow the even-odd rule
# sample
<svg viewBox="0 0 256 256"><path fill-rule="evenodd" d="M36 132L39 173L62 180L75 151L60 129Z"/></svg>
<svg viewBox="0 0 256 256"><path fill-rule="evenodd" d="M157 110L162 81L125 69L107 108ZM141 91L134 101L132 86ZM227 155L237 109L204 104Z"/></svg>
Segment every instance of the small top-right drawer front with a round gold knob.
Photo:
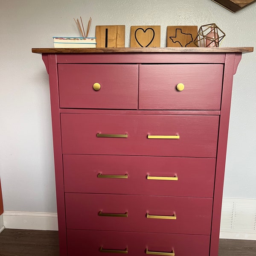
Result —
<svg viewBox="0 0 256 256"><path fill-rule="evenodd" d="M222 64L140 65L139 108L219 110L222 73Z"/></svg>

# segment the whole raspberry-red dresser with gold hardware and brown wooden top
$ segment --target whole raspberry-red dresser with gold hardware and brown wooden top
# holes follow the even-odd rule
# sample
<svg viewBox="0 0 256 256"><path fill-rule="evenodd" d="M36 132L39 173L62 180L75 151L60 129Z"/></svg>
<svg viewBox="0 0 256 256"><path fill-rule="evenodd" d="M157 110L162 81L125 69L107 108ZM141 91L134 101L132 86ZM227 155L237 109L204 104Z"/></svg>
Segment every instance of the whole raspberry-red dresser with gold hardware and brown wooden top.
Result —
<svg viewBox="0 0 256 256"><path fill-rule="evenodd" d="M218 256L233 75L252 51L32 49L49 74L61 256Z"/></svg>

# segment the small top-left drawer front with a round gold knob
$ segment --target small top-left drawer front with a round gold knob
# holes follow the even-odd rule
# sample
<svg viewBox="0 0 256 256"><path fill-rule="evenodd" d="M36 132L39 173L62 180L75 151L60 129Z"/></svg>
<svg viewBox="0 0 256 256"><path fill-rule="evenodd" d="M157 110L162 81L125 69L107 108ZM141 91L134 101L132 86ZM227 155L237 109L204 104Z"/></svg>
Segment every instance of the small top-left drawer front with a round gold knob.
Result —
<svg viewBox="0 0 256 256"><path fill-rule="evenodd" d="M59 64L58 80L61 108L138 108L137 65Z"/></svg>

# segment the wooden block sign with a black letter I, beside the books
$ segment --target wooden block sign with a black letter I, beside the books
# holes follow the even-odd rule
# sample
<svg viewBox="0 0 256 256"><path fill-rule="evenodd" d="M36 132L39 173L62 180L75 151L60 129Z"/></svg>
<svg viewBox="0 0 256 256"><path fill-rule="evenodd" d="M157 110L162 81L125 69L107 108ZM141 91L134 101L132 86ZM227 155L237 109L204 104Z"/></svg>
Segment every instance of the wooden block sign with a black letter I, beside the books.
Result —
<svg viewBox="0 0 256 256"><path fill-rule="evenodd" d="M125 25L96 26L96 47L125 47Z"/></svg>

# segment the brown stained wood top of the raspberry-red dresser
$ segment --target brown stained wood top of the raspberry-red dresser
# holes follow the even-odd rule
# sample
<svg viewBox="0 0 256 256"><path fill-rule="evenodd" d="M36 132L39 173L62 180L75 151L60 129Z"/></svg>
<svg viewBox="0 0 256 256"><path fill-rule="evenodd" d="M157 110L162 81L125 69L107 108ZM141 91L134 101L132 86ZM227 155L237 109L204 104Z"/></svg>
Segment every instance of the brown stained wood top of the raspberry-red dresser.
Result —
<svg viewBox="0 0 256 256"><path fill-rule="evenodd" d="M32 48L33 53L103 53L103 52L253 52L253 47L149 47L149 48Z"/></svg>

